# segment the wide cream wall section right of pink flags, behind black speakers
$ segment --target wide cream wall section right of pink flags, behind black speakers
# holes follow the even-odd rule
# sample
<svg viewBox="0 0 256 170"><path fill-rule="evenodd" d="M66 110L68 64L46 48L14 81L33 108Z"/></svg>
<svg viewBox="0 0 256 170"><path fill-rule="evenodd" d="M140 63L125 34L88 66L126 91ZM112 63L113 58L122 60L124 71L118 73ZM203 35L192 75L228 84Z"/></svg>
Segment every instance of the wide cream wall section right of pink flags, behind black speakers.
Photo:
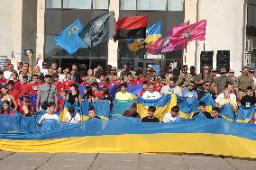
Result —
<svg viewBox="0 0 256 170"><path fill-rule="evenodd" d="M197 5L198 3L198 5ZM189 42L187 45L187 65L200 68L200 52L214 50L214 67L216 67L217 50L230 50L230 67L235 74L242 68L243 58L243 13L244 0L186 0L185 21L190 23L203 19L207 21L206 40Z"/></svg>

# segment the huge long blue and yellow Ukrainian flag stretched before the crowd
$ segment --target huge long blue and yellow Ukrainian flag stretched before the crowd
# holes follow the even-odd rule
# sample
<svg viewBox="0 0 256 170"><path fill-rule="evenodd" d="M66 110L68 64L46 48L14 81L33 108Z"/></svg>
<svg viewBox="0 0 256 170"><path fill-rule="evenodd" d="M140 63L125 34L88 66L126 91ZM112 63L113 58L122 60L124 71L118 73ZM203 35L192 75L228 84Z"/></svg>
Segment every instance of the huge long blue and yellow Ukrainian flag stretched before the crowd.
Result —
<svg viewBox="0 0 256 170"><path fill-rule="evenodd" d="M91 119L75 125L47 121L43 126L48 127L40 130L33 117L0 115L0 150L45 153L204 153L256 158L256 126L253 124L224 119L172 123Z"/></svg>

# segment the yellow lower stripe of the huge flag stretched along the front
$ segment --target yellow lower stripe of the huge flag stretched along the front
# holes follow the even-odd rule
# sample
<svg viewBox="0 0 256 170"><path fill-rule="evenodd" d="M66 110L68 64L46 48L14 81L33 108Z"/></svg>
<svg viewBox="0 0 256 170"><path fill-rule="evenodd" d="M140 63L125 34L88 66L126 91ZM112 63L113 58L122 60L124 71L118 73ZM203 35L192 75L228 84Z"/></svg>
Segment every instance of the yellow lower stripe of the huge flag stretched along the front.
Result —
<svg viewBox="0 0 256 170"><path fill-rule="evenodd" d="M0 149L44 153L204 153L256 158L255 140L204 133L134 134L48 140L1 139Z"/></svg>

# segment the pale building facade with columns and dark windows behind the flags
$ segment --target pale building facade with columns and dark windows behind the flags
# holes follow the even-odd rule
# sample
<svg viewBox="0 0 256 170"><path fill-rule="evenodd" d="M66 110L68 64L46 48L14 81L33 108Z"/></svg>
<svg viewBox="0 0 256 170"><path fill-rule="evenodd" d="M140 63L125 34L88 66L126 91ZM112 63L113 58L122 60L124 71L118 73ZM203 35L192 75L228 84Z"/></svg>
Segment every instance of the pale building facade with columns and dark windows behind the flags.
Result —
<svg viewBox="0 0 256 170"><path fill-rule="evenodd" d="M214 68L223 66L221 59L225 58L221 56L227 54L226 61L236 74L243 66L256 64L256 0L0 0L0 3L4 4L0 6L0 22L5 23L0 25L0 57L14 62L27 61L23 50L33 49L34 56L43 57L39 65L45 60L49 64L57 62L61 67L77 63L87 67L110 64L137 69L151 64L161 68L187 64L196 66L198 73L206 64L200 57L202 51L211 51L209 58ZM159 56L147 56L144 49L133 52L127 48L126 40L109 40L96 47L96 52L79 49L72 56L56 46L56 36L71 22L79 18L86 25L108 11L114 11L115 20L148 14L149 24L162 21L163 33L182 22L206 19L206 40L189 42L185 50Z"/></svg>

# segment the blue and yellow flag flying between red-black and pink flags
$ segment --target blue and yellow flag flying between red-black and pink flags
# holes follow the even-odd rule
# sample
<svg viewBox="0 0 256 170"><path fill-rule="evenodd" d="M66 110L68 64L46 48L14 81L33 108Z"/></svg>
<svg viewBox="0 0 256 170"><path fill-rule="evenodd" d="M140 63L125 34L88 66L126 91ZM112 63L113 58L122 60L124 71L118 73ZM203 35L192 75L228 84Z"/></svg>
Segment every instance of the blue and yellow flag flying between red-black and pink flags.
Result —
<svg viewBox="0 0 256 170"><path fill-rule="evenodd" d="M145 42L145 47L151 46L153 42L158 40L161 37L161 21L156 22L152 24L150 27L147 28L146 31L146 39L145 40L140 40L140 39L132 39L128 41L128 48L132 51L136 51L139 49L144 48L144 42Z"/></svg>

